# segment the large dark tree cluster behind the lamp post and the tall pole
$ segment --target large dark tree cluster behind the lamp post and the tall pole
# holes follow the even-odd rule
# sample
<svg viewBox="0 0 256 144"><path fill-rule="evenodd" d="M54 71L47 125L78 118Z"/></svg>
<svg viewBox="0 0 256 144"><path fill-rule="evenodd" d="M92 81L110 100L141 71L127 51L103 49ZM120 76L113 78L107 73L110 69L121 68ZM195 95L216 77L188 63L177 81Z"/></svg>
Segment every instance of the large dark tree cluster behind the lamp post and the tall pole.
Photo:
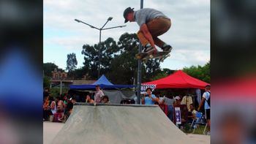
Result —
<svg viewBox="0 0 256 144"><path fill-rule="evenodd" d="M139 40L136 34L124 33L116 42L108 38L102 42L101 48L101 69L100 73L105 74L112 83L131 84L137 79ZM99 61L99 45L83 45L84 70L91 79L97 79L97 67ZM150 80L151 77L161 72L159 62L149 60L142 67L142 80Z"/></svg>

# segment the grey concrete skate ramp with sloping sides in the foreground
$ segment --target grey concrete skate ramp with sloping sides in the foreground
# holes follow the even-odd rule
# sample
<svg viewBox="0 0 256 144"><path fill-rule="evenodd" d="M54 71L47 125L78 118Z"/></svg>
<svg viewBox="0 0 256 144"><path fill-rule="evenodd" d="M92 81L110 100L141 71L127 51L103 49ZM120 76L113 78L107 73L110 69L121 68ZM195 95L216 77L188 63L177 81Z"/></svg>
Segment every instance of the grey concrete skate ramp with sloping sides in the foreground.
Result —
<svg viewBox="0 0 256 144"><path fill-rule="evenodd" d="M181 132L156 105L75 105L52 143L198 142Z"/></svg>

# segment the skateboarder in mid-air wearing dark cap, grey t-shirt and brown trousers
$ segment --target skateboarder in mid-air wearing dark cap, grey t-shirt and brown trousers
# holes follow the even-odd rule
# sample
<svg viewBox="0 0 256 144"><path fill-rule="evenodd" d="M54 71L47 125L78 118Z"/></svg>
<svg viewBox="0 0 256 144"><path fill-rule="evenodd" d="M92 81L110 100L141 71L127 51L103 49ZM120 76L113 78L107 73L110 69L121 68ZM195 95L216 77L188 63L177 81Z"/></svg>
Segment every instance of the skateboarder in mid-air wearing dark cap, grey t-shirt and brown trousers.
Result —
<svg viewBox="0 0 256 144"><path fill-rule="evenodd" d="M137 35L143 45L143 52L148 53L148 55L157 53L155 45L163 51L170 52L172 47L158 38L159 35L165 34L165 32L170 29L170 18L162 12L151 8L144 8L137 11L133 9L134 8L127 7L127 9L124 10L124 23L127 23L127 21L136 21L140 26Z"/></svg>

